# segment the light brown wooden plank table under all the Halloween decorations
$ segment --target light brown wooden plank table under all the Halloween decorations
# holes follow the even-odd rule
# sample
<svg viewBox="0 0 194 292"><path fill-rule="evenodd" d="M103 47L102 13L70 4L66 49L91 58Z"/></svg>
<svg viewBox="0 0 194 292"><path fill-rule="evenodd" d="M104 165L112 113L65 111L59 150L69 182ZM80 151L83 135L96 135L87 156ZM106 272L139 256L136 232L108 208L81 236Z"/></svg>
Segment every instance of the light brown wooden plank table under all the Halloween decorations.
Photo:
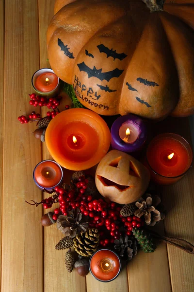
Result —
<svg viewBox="0 0 194 292"><path fill-rule="evenodd" d="M111 283L98 282L90 274L86 278L75 271L68 274L64 251L54 248L63 235L55 226L43 229L42 208L25 203L41 201L32 171L50 156L45 144L32 135L35 125L21 125L17 117L34 110L28 96L32 74L49 66L46 31L53 4L54 0L6 0L4 5L0 0L1 291L194 292L194 256L165 244L153 254L139 252ZM45 112L42 110L43 116ZM167 119L161 127L190 139L187 118ZM163 189L163 201L169 212L161 230L194 243L194 169L179 183Z"/></svg>

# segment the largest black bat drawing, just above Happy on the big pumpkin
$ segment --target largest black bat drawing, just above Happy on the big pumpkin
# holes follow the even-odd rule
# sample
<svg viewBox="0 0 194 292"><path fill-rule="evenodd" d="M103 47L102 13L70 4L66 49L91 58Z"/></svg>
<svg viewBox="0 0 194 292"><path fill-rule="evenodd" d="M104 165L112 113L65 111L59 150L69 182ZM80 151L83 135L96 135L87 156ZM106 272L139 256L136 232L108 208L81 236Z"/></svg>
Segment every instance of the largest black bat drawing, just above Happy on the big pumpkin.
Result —
<svg viewBox="0 0 194 292"><path fill-rule="evenodd" d="M119 70L118 68L114 69L113 71L109 71L109 72L102 72L102 68L97 70L97 68L94 66L93 69L91 69L90 67L88 67L84 62L78 64L78 67L80 69L80 72L86 72L88 74L88 78L91 77L97 77L99 80L106 80L106 81L110 81L111 78L113 77L119 77L124 70Z"/></svg>

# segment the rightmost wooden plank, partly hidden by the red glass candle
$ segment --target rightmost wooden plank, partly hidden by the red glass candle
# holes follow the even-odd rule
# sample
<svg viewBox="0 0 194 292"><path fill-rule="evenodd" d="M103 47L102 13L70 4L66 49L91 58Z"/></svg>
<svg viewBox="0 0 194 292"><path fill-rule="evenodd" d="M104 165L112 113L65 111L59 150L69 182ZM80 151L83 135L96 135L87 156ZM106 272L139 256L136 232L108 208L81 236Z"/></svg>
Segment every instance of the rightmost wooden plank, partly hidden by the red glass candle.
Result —
<svg viewBox="0 0 194 292"><path fill-rule="evenodd" d="M162 131L180 134L191 143L189 118L168 118L159 125ZM194 244L194 168L178 183L163 188L167 208L165 233ZM167 245L173 292L194 291L194 256Z"/></svg>

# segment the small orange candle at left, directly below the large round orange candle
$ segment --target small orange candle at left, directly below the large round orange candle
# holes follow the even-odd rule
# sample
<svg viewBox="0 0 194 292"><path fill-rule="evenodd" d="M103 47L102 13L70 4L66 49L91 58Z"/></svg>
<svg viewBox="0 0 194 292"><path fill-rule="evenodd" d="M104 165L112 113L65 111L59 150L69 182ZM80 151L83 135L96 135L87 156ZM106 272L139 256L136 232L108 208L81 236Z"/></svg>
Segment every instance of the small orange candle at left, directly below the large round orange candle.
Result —
<svg viewBox="0 0 194 292"><path fill-rule="evenodd" d="M34 178L42 187L53 187L61 181L62 171L56 163L52 161L43 161L36 166Z"/></svg>

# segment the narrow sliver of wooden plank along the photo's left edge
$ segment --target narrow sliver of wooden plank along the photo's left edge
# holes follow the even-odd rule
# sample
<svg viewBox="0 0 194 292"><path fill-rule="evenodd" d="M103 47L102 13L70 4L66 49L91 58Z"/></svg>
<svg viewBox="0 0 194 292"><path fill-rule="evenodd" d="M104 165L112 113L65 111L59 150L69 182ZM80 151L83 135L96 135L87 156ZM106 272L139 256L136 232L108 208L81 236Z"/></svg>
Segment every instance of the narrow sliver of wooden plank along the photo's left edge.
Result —
<svg viewBox="0 0 194 292"><path fill-rule="evenodd" d="M0 262L2 243L2 178L3 178L3 96L4 96L4 0L0 0ZM1 266L0 266L1 274ZM1 277L0 277L1 285Z"/></svg>

